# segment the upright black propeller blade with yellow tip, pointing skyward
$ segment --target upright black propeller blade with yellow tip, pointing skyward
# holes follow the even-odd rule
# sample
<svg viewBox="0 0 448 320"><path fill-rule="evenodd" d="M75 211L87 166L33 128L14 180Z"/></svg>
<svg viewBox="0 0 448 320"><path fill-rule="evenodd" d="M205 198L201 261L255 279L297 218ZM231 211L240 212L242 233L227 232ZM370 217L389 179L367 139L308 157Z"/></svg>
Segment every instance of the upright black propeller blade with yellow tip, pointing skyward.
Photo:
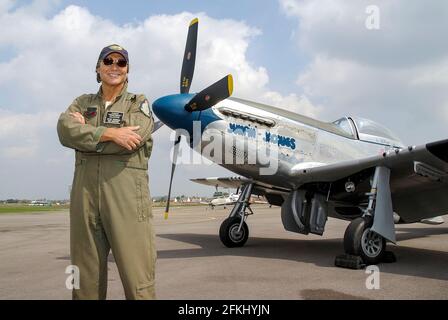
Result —
<svg viewBox="0 0 448 320"><path fill-rule="evenodd" d="M194 65L196 63L196 47L198 42L198 24L196 18L191 21L185 46L184 62L180 76L180 93L189 93L193 81Z"/></svg>

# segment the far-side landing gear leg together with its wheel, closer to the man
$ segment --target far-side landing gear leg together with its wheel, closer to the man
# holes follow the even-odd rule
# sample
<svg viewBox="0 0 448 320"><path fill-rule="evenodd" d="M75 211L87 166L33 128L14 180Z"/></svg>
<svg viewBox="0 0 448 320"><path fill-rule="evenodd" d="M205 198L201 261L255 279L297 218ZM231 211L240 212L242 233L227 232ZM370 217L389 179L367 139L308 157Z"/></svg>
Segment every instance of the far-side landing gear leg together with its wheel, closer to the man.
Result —
<svg viewBox="0 0 448 320"><path fill-rule="evenodd" d="M219 238L228 248L243 247L249 238L249 227L246 224L246 219L254 214L249 203L252 189L253 184L243 186L241 195L230 216L224 220L219 228Z"/></svg>

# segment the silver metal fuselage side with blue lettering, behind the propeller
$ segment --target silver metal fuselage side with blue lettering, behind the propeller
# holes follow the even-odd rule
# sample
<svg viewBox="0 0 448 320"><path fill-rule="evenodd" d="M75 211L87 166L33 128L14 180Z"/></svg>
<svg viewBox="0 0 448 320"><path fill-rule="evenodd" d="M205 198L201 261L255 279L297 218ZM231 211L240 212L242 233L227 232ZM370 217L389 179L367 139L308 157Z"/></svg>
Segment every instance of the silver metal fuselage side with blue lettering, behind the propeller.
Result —
<svg viewBox="0 0 448 320"><path fill-rule="evenodd" d="M291 179L296 170L365 158L402 147L397 141L383 138L363 141L350 137L333 124L241 99L229 98L211 110L220 120L205 127L201 150L205 151L207 146L210 149L213 141L210 137L217 133L227 145L222 157L217 158L216 153L210 156L208 152L202 155L236 174L288 189L302 184L300 178ZM271 140L267 141L266 137ZM260 168L267 165L258 157L255 162L247 163L249 154L274 148L276 156L270 160L277 163L270 165L277 167L275 174L261 174ZM229 162L232 156L233 161Z"/></svg>

